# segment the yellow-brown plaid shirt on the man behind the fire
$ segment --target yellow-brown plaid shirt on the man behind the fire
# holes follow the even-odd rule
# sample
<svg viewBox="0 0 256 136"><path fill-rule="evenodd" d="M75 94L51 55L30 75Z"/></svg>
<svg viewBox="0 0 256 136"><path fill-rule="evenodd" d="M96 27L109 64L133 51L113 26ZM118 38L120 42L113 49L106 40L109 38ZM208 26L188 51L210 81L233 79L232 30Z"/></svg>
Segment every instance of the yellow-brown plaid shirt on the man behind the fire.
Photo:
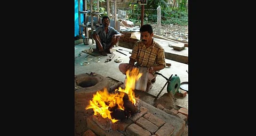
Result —
<svg viewBox="0 0 256 136"><path fill-rule="evenodd" d="M166 65L164 49L158 43L153 40L153 44L150 47L146 47L142 41L137 41L132 49L130 58L133 58L135 65L141 67L158 66L159 64Z"/></svg>

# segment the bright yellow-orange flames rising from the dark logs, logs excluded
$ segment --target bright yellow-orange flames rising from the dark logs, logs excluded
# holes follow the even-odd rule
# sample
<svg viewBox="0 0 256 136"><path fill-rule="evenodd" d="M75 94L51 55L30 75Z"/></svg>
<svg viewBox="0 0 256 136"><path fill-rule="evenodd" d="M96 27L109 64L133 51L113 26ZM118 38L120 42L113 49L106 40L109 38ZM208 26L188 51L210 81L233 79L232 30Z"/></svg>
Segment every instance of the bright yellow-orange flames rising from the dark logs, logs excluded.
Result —
<svg viewBox="0 0 256 136"><path fill-rule="evenodd" d="M116 89L115 94L109 94L107 88L104 88L103 91L97 91L95 95L93 95L92 100L90 100L90 105L88 105L85 109L92 108L94 111L94 115L100 114L103 118L108 117L113 123L117 122L115 118L112 118L111 108L117 106L117 109L121 109L124 111L124 102L123 97L125 94L129 96L129 100L135 106L135 82L141 77L142 73L139 73L139 69L135 67L131 71L126 71L126 81L125 88L122 89L119 87ZM125 92L125 93L117 93L117 91ZM110 109L110 111L109 111Z"/></svg>

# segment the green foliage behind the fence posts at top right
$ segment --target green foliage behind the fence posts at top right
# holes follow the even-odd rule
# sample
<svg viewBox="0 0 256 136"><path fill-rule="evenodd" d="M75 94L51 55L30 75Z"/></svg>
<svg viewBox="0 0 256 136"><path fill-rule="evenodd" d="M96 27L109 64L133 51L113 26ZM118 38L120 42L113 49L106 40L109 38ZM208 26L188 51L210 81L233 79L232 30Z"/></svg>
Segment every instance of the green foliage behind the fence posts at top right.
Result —
<svg viewBox="0 0 256 136"><path fill-rule="evenodd" d="M140 23L141 5L130 3L130 9L127 11L128 19ZM188 25L187 0L176 0L173 4L169 0L147 0L144 10L144 20L148 22L157 22L157 7L161 6L161 23Z"/></svg>

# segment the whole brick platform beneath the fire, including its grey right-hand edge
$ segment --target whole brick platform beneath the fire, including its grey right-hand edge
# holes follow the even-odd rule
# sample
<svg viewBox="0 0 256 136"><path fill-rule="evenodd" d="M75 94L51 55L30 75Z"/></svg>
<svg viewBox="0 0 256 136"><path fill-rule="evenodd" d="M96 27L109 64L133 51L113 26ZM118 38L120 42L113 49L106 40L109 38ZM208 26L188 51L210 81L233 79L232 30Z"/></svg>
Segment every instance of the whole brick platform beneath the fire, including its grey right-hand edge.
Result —
<svg viewBox="0 0 256 136"><path fill-rule="evenodd" d="M171 135L179 136L185 128L185 121L167 114L161 109L137 99L139 111L129 119L111 123L108 118L92 115L86 119L87 128L97 135ZM111 125L111 127L110 127Z"/></svg>

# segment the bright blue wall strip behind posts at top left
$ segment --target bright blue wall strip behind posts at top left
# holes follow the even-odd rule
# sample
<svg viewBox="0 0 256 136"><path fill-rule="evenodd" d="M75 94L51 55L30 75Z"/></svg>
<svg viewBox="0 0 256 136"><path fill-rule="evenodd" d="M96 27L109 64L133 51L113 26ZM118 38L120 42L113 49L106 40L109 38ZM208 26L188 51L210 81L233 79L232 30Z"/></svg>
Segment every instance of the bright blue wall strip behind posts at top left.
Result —
<svg viewBox="0 0 256 136"><path fill-rule="evenodd" d="M81 10L83 10L83 1L82 0L75 0L75 37L79 36L79 24L78 24L78 1L80 1ZM81 22L84 21L84 15L81 14ZM83 28L81 28L81 31Z"/></svg>

